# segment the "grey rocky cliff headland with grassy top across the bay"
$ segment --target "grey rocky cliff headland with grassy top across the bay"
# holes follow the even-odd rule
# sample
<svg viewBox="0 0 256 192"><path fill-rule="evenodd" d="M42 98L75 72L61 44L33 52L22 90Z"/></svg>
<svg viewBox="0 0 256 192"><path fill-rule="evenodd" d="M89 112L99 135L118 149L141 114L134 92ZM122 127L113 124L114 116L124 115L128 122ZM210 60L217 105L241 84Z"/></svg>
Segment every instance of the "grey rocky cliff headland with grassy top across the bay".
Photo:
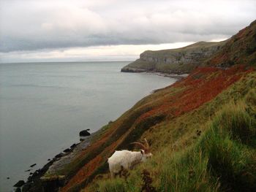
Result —
<svg viewBox="0 0 256 192"><path fill-rule="evenodd" d="M121 72L188 73L225 45L225 42L197 42L172 50L146 50Z"/></svg>

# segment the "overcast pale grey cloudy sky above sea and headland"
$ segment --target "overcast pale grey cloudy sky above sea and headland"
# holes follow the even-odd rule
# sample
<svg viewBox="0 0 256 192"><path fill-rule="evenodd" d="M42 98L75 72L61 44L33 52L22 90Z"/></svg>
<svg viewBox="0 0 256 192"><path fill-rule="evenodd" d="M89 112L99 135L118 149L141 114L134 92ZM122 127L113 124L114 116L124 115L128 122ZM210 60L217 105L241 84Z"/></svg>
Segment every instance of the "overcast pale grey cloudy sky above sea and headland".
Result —
<svg viewBox="0 0 256 192"><path fill-rule="evenodd" d="M0 59L133 60L227 39L255 19L255 0L0 0Z"/></svg>

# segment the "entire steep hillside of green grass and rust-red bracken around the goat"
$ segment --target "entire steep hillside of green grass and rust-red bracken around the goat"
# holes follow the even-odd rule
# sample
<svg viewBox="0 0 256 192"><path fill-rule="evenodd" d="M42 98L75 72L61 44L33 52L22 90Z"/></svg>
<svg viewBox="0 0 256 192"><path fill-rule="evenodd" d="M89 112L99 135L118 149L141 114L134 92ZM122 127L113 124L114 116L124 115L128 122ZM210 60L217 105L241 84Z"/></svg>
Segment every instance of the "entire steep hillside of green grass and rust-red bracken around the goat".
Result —
<svg viewBox="0 0 256 192"><path fill-rule="evenodd" d="M239 32L227 41L204 67L141 99L94 134L91 146L59 171L68 178L61 191L254 191L256 55L244 51L242 42L253 47L255 24L246 28L249 35ZM234 47L238 37L243 40ZM219 55L232 58L236 50L241 58L216 67ZM114 150L136 150L129 143L145 137L153 158L108 179L106 161Z"/></svg>

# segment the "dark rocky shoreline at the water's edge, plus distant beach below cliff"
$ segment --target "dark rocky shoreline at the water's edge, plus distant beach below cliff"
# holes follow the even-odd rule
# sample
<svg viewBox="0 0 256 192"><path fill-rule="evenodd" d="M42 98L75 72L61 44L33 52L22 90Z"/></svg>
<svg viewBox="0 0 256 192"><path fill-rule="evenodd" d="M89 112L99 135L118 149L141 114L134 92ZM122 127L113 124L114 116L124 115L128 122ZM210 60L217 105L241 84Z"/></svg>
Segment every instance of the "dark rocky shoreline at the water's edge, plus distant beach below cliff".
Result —
<svg viewBox="0 0 256 192"><path fill-rule="evenodd" d="M179 74L165 74L160 72L143 72L145 74L154 74L161 77L169 77L174 78L176 80L181 80L184 78L184 75ZM161 88L160 88L161 89ZM158 89L157 89L158 90ZM150 93L154 93L152 90ZM98 131L100 131L99 128ZM64 168L64 166L71 163L75 158L78 157L83 150L86 150L87 147L91 146L91 138L97 133L94 132L91 136L87 137L84 141L75 143L71 145L69 148L61 151L57 155L55 155L51 160L48 160L48 163L41 166L35 170L31 175L24 180L24 184L19 187L13 187L14 191L19 191L19 189L24 192L26 191L51 191L50 189L54 188L59 189L64 186L69 180L70 175L59 174L58 172ZM17 180L17 183L19 181ZM15 183L14 183L15 184Z"/></svg>

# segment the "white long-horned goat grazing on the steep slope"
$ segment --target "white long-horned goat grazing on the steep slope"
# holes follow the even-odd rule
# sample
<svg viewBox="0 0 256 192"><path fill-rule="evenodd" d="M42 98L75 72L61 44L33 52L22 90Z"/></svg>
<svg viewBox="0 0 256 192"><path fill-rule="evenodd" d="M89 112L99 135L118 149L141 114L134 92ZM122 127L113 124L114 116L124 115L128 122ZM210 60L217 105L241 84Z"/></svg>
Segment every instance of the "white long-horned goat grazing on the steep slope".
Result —
<svg viewBox="0 0 256 192"><path fill-rule="evenodd" d="M115 153L108 158L111 177L114 177L116 174L121 175L122 170L132 169L136 164L146 161L147 158L152 156L146 139L145 142L146 145L140 142L132 143L140 145L140 147L143 148L140 151L116 150Z"/></svg>

